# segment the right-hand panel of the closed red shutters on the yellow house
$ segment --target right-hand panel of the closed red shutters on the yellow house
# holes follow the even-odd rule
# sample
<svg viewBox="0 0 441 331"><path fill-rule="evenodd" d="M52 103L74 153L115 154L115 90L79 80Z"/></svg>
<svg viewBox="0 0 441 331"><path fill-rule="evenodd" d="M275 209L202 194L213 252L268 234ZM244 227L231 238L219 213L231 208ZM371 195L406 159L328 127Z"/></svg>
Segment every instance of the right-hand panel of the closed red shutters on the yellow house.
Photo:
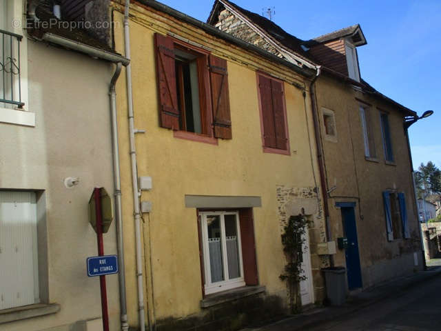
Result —
<svg viewBox="0 0 441 331"><path fill-rule="evenodd" d="M287 149L287 134L285 127L285 105L283 103L283 83L271 79L271 95L273 100L274 128L276 130L276 148Z"/></svg>

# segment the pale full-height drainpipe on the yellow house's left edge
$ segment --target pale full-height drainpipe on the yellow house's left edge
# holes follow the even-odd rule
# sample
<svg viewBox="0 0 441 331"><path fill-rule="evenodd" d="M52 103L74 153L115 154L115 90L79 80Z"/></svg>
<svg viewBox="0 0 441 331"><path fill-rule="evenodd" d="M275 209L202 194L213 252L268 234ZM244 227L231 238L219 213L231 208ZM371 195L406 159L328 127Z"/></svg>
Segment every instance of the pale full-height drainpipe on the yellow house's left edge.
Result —
<svg viewBox="0 0 441 331"><path fill-rule="evenodd" d="M125 1L124 8L124 43L125 57L130 59L130 28L129 28L129 10L130 0ZM144 288L143 288L143 268L141 263L141 214L139 210L139 188L138 174L136 167L136 146L133 114L133 96L132 96L132 66L129 64L125 68L127 79L127 107L129 112L129 136L130 136L130 159L132 163L132 188L133 188L133 207L135 221L135 242L136 242L136 278L138 283L138 310L139 310L139 328L145 330L144 316Z"/></svg>

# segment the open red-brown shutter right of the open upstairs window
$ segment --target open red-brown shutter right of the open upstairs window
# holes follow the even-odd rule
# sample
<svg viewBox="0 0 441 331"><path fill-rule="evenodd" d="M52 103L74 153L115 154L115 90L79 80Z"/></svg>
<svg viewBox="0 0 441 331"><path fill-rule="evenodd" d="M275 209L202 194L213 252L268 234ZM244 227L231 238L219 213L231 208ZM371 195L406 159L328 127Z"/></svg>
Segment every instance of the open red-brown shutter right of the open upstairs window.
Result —
<svg viewBox="0 0 441 331"><path fill-rule="evenodd" d="M212 86L214 137L232 139L227 61L210 54L209 77Z"/></svg>

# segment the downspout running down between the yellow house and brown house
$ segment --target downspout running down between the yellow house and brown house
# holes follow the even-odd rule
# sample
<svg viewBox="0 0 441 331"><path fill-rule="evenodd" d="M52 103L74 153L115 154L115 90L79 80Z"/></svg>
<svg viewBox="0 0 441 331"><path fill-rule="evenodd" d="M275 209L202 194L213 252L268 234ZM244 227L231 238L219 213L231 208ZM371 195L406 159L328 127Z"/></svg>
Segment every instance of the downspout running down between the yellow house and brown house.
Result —
<svg viewBox="0 0 441 331"><path fill-rule="evenodd" d="M312 118L314 121L314 135L316 137L316 146L317 146L317 159L318 159L318 170L320 172L320 188L322 190L323 197L323 209L325 210L325 231L327 241L331 240L331 226L329 225L329 201L328 201L328 191L327 191L327 181L325 174L325 159L323 157L323 148L320 139L320 124L318 122L318 109L316 103L316 80L321 74L321 67L317 66L316 77L312 79L311 84L309 85L309 93L311 97L311 107L312 107ZM334 267L334 256L329 255L329 264L331 267Z"/></svg>

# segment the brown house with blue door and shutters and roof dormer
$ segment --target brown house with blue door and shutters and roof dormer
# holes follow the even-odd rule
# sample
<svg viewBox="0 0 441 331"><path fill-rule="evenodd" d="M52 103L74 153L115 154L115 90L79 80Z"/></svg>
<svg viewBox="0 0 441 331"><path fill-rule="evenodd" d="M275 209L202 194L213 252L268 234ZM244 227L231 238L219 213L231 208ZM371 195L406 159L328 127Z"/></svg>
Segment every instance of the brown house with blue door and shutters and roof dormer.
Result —
<svg viewBox="0 0 441 331"><path fill-rule="evenodd" d="M302 41L274 22L216 0L207 23L298 63L316 63L311 86L329 241L346 237L335 265L347 268L349 290L422 268L418 210L404 119L416 112L361 78L360 26ZM340 241L342 242L342 241Z"/></svg>

